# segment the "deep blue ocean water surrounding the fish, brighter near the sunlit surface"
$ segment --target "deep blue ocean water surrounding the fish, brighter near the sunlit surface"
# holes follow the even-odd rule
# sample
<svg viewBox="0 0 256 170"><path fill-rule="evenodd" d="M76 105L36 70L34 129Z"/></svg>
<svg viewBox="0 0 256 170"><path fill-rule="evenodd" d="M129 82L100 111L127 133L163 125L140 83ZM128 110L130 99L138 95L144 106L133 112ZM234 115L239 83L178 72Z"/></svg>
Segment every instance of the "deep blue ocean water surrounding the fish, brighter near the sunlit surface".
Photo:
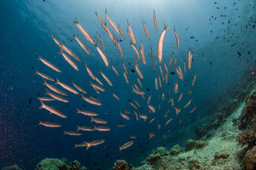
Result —
<svg viewBox="0 0 256 170"><path fill-rule="evenodd" d="M125 159L134 166L138 166L148 154L158 146L172 148L174 144L184 145L188 139L195 139L195 125L204 117L211 117L213 113L207 111L212 99L225 88L237 82L241 78L241 73L250 67L255 61L255 2L253 1L2 1L0 27L0 69L1 69L1 97L0 97L0 167L18 164L25 169L34 169L39 161L45 157L67 158L68 161L78 160L88 169L111 169L114 161ZM121 27L125 34L120 46L124 52L124 58L119 54L118 48L103 30L96 18L95 11L106 20L110 31L110 26L105 15L105 8L113 22ZM153 12L156 11L159 30L154 28ZM86 41L79 29L73 23L78 18L81 26L88 31L96 42L96 31L101 35L106 45L104 50L98 42L103 53L106 54L109 62L119 71L117 77L111 67L104 65L101 56L96 51L93 44ZM149 41L143 30L142 19L148 28L151 36ZM137 40L137 50L143 42L147 65L139 62L139 68L143 72L144 79L142 90L146 92L145 100L140 95L132 93L131 84L137 84L137 73L134 59L136 54L131 48L127 34L127 21L134 32ZM168 75L168 82L162 82L162 88L155 90L154 77L160 76L159 62L157 59L157 43L164 23L170 28L166 31L163 47L163 60L168 64L172 52L177 56L177 65L183 70L183 60L188 58L188 51L191 48L194 52L192 69L187 73L183 72L183 81L178 79L177 74ZM177 35L181 42L181 47L177 50L177 44L173 32L175 26ZM254 26L254 27L253 27ZM72 34L79 37L84 45L89 48L91 56L86 54L79 47ZM114 32L115 35L116 32ZM71 48L79 56L81 62L79 71L67 64L63 59L60 48L50 38L50 35L61 40L68 48ZM153 48L154 59L156 61L156 71L153 71L153 61L150 49ZM248 53L250 51L250 53ZM241 56L238 54L241 54ZM38 60L39 54L61 69L57 73ZM125 82L123 77L123 59L129 74L127 75L130 84ZM96 94L90 87L90 76L88 75L84 63L96 74L104 84L106 92ZM162 61L163 62L163 61ZM164 69L163 63L160 64ZM40 102L37 97L46 96L43 78L35 75L35 69L44 72L50 77L58 77L61 82L72 85L71 82L79 84L88 93L102 101L102 106L90 105L81 99L80 95L67 92L70 102L67 104L59 101L45 102L65 112L67 119L49 114L49 111L38 110ZM102 70L113 82L110 87L98 72ZM175 71L172 65L168 67L169 72ZM197 74L195 85L191 87L192 79ZM174 82L178 82L178 92L174 94ZM51 83L51 82L50 82ZM137 84L138 85L138 84ZM56 85L57 86L57 85ZM61 88L58 86L58 88ZM192 94L188 95L192 88ZM148 90L149 91L148 91ZM170 96L167 96L171 89ZM180 92L183 98L177 103ZM161 100L162 92L166 99ZM120 100L113 98L117 94ZM148 113L147 99L152 95L150 104L154 105L156 113ZM175 106L183 108L189 99L193 99L186 109L176 116L172 105L166 101L172 96ZM31 102L30 102L31 99ZM129 104L129 99L134 103L134 99L141 105L137 113L148 115L148 120L136 120L133 108ZM160 111L158 105L161 105ZM195 112L189 111L196 105ZM84 107L85 106L85 107ZM96 123L90 122L90 116L77 114L80 110L96 111L99 118L108 121L109 132L82 132L81 136L63 135L63 130L77 130L79 126L92 126ZM119 111L131 111L131 120L126 121L121 118ZM171 109L167 118L164 115ZM200 114L199 114L200 113ZM200 116L199 116L200 115ZM203 115L203 117L202 117ZM149 120L155 117L154 122L148 124ZM173 121L165 126L168 118ZM38 126L38 120L43 122L57 122L62 125L59 128ZM181 120L181 122L180 122ZM116 127L123 123L125 127ZM207 123L207 122L206 122ZM158 129L158 124L161 128ZM96 125L99 126L99 125ZM170 133L167 131L170 130ZM148 133L155 133L149 140ZM163 133L166 139L162 138ZM137 139L130 139L130 135L136 135ZM74 148L74 144L95 139L105 139L103 144L85 148ZM128 141L134 144L119 152L119 146Z"/></svg>

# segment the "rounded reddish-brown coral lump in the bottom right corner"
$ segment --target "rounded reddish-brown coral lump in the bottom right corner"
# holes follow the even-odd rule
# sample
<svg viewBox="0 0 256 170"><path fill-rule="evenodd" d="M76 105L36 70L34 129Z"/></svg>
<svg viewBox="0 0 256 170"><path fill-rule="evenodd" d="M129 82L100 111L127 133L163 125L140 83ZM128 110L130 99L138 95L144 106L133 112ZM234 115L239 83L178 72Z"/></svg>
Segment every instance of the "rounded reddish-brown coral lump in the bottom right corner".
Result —
<svg viewBox="0 0 256 170"><path fill-rule="evenodd" d="M256 169L256 146L248 150L242 161L242 170Z"/></svg>

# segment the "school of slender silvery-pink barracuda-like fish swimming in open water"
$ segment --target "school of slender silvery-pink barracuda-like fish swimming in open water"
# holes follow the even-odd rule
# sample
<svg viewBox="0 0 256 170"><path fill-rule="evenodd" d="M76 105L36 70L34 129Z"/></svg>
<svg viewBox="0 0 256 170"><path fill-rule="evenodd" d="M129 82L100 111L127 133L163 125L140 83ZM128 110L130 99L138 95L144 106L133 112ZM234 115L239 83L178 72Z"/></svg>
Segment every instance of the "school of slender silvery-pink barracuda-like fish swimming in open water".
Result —
<svg viewBox="0 0 256 170"><path fill-rule="evenodd" d="M123 50L119 44L120 40L116 36L116 33L117 33L118 35L123 37L124 41L127 40L127 39L125 39L125 35L124 35L123 31L121 30L121 27L119 26L119 24L118 24L118 26L116 26L116 24L113 22L113 20L110 19L110 16L108 16L108 14L107 14L107 9L105 10L106 18L112 28L109 28L107 26L106 21L105 22L102 21L102 19L97 14L97 12L95 14L96 14L96 17L99 20L102 28L104 29L104 31L107 32L108 37L113 42L113 44L115 46L117 46L117 49L119 50L119 54L121 56L120 63L122 64L122 66L124 68L123 76L122 76L122 74L119 75L119 71L117 71L117 69L114 67L114 65L111 63L111 61L108 60L108 55L106 55L104 53L104 51L102 51L101 48L103 48L104 50L108 50L108 44L105 44L103 42L100 34L98 34L98 31L96 32L97 39L95 42L93 40L93 38L89 35L89 33L85 30L85 28L82 25L80 25L79 20L77 18L73 21L73 23L78 27L79 31L82 33L82 35L87 40L87 42L90 42L95 46L96 51L101 56L101 59L102 59L104 65L106 65L108 67L108 69L113 70L113 72L115 73L115 75L117 77L121 77L121 78L119 78L119 82L124 81L127 84L131 85L131 91L132 91L132 93L134 93L134 99L129 99L130 105L129 104L125 105L125 108L123 111L116 111L116 112L119 112L119 119L121 122L125 122L126 124L128 124L131 119L134 119L136 121L139 121L140 119L142 119L143 122L151 124L156 119L154 114L161 114L163 117L165 117L166 122L163 123L162 125L157 124L157 128L160 129L161 126L167 127L169 123L171 123L173 120L175 120L175 117L174 117L175 115L177 116L181 112L192 113L193 111L195 111L196 106L189 107L190 103L193 102L192 99L189 99L188 101L186 101L186 104L183 106L177 105L177 103L179 103L183 99L183 95L185 95L184 92L179 90L179 83L180 83L180 81L183 81L183 77L187 73L187 68L189 68L189 71L191 70L193 51L190 48L188 49L187 65L186 65L186 61L184 60L183 61L183 70L180 65L177 65L177 56L175 56L175 59L173 62L174 63L173 67L174 67L174 70L176 71L177 79L175 82L168 82L168 77L170 76L168 67L170 67L172 65L174 53L172 52L172 54L170 54L171 56L170 56L169 62L166 65L166 63L165 63L166 56L164 56L165 53L163 53L164 38L166 37L166 31L168 31L168 28L169 28L168 26L166 26L166 24L164 24L164 29L160 33L158 42L155 41L155 46L157 47L157 49L156 49L157 50L157 58L159 61L159 71L158 72L160 74L155 73L154 75L152 75L152 77L154 77L154 82L152 82L152 86L155 87L156 92L158 92L158 94L160 94L160 95L154 96L155 94L150 94L149 92L143 90L142 80L147 77L143 76L143 74L146 74L146 71L144 70L144 67L143 67L143 69L141 69L140 64L139 64L139 62L141 62L141 61L143 61L143 65L147 65L147 63L149 63L149 62L153 62L154 68L147 67L147 69L148 70L152 69L155 72L157 68L155 68L156 64L155 64L155 60L154 60L154 49L153 48L150 49L151 59L146 58L145 54L149 54L149 52L144 51L142 41L140 43L139 49L137 49L138 43L136 41L136 37L134 36L134 33L132 31L132 28L131 28L132 26L129 24L129 21L127 20L126 27L127 27L128 37L131 41L131 43L130 43L131 44L131 54L134 54L134 56L135 56L133 66L137 73L137 74L135 74L137 77L137 82L131 82L129 77L132 77L132 76L131 76L131 74L129 74L129 71L127 70L127 67L125 65L125 58L127 58L127 56L125 56L125 54L123 53ZM155 27L156 31L158 31L159 26L157 25L155 10L154 10L153 16L154 16L154 18L153 18L154 27ZM148 37L148 41L153 41L152 38L150 37L150 33L148 32L148 28L146 26L147 23L144 22L143 20L142 20L142 23L143 23L142 27L143 27L146 37ZM111 29L113 31L110 31ZM177 36L175 27L173 27L173 30L174 30L174 36L176 38L177 50L179 50L180 49L180 41ZM57 40L53 35L51 35L51 38L60 47L59 54L61 54L62 57L67 61L68 65L70 65L75 71L79 71L79 66L81 66L81 65L76 64L77 61L81 62L81 59L79 59L79 56L74 54L71 49L67 48L67 46L65 46L61 41ZM81 39L79 39L79 37L76 36L75 33L73 33L73 38L76 40L76 42L78 42L79 46L84 50L84 52L86 54L91 55L90 49L86 48L87 42L83 42L84 40L82 40L82 37L80 37ZM99 43L101 44L101 47L99 47ZM168 50L168 51L170 51L170 50ZM131 57L131 56L129 56L129 57ZM38 60L42 61L44 63L44 65L47 65L53 71L57 71L57 72L61 73L61 70L56 65L52 64L47 59L44 59L42 56L39 55ZM101 60L98 60L98 61L101 62ZM90 87L95 90L96 94L104 93L107 90L106 82L110 87L115 86L115 84L113 83L113 80L116 79L117 77L108 77L105 73L102 72L101 69L98 69L98 71L99 71L100 75L102 75L102 76L100 76L102 78L96 77L96 75L97 75L96 71L90 69L90 64L84 63L82 65L85 66L86 71L87 71L89 77L91 78L88 81L90 82ZM109 65L111 65L111 68L109 68ZM40 100L40 103L41 103L41 106L39 107L39 109L45 109L45 110L49 111L50 113L55 114L55 116L60 116L61 118L67 118L67 115L64 112L59 111L55 107L50 106L48 104L46 105L44 103L49 102L49 101L54 101L54 100L68 103L70 101L67 99L67 97L68 97L68 95L72 95L72 94L79 95L81 97L81 99L85 100L86 104L88 104L88 105L96 105L96 106L104 105L104 101L101 101L101 100L97 99L96 97L90 96L91 94L90 94L89 90L85 91L84 88L81 88L79 86L79 84L77 84L75 82L67 82L67 83L71 83L72 84L72 86L71 86L71 85L68 85L67 83L61 82L61 80L59 80L58 78L56 78L56 81L55 81L54 78L49 77L48 75L44 74L43 72L39 72L36 70L36 74L38 74L40 77L44 78L44 86L45 86L45 88L46 87L49 88L49 89L46 89L47 97L38 97L38 99ZM191 88L195 84L196 76L197 75L195 73L194 78L191 79ZM55 87L55 85L50 82L55 82L55 84L59 85L59 87L58 88ZM138 84L138 86L137 86L137 84ZM177 94L177 92L179 91L179 96L178 96L177 100L173 99L172 94L171 94L171 91L172 91L171 88L168 88L168 91L160 90L160 88L165 86L165 84L171 84L171 86L168 86L168 87L173 88L174 94ZM192 93L191 88L188 90L188 92L186 94L189 95ZM113 100L116 100L116 101L120 100L120 98L119 98L120 96L118 94L116 94L116 93L112 93L112 94L113 94ZM145 97L147 97L147 99ZM160 104L150 103L152 97L157 97L157 98L159 97L159 99L162 101L166 100L166 105L169 106L169 109L167 111L160 111L161 110ZM112 98L112 97L110 96L109 98ZM141 106L142 103L140 103L140 102L144 102L148 106L147 108L143 108L144 109L143 111L138 110L139 108L142 107ZM189 110L186 109L187 107L189 107ZM158 111L157 111L157 108L158 108ZM171 109L172 109L172 111L171 111ZM132 115L131 112L133 112L134 115ZM172 112L174 113L174 116L170 116ZM82 131L84 131L84 132L86 132L86 131L106 132L106 131L112 130L110 127L108 127L108 120L99 118L101 114L99 114L95 111L84 111L81 108L77 108L77 114L89 116L91 119L90 122L84 123L85 126L77 125L77 131L64 130L64 134L72 135L72 136L79 136L79 135L83 135ZM99 117L97 117L97 116L99 116ZM179 120L179 122L181 122L181 120ZM116 127L120 127L120 128L125 127L125 123L117 124ZM56 123L56 122L41 122L41 121L39 121L39 125L43 125L44 127L62 127L61 124ZM170 132L170 130L167 130L166 132ZM126 148L129 148L129 147L132 147L132 144L134 144L134 139L137 139L137 136L134 136L133 134L129 134L129 135L130 135L131 140L127 141L125 144L119 144L119 151L125 150ZM166 138L165 133L163 133L162 136L163 136L163 138ZM152 139L153 137L154 137L154 132L148 132L148 139ZM99 144L103 144L104 142L105 142L105 139L95 139L93 141L81 141L81 144L74 144L74 146L75 147L86 147L86 150L88 150L91 146L97 146Z"/></svg>

